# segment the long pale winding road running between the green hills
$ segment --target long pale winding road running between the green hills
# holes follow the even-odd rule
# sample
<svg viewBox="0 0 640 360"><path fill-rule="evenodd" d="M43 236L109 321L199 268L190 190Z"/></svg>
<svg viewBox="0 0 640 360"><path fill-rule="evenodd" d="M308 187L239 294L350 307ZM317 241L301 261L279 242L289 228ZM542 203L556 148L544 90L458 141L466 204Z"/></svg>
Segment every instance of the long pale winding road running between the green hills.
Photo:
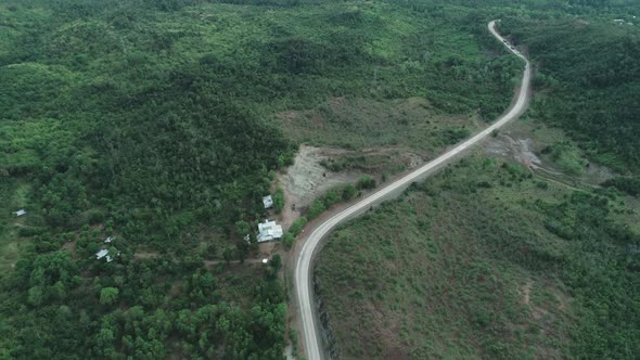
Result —
<svg viewBox="0 0 640 360"><path fill-rule="evenodd" d="M488 24L491 34L496 38L498 38L500 42L504 43L509 51L524 60L526 64L522 77L522 85L520 88L520 93L517 95L517 101L515 102L515 104L513 104L511 110L507 114L502 115L491 126L475 134L474 137L465 140L464 142L458 144L456 147L449 150L439 157L424 164L420 168L407 173L398 180L395 180L394 182L387 184L386 187L380 189L371 195L362 198L358 203L349 206L348 208L329 218L324 222L320 223L310 233L310 235L307 236L303 245L303 248L300 249L297 256L297 261L294 270L294 281L298 307L298 320L300 321L299 325L304 333L303 348L305 349L304 352L306 352L308 360L321 360L324 355L324 351L320 348L320 343L322 340L319 336L318 319L315 313L316 308L313 305L313 286L311 273L313 255L316 250L319 248L318 245L322 243L322 240L325 239L327 235L338 224L345 222L348 219L354 218L357 215L366 213L373 205L380 204L381 202L387 198L394 197L399 192L405 190L408 185L410 185L412 182L424 179L426 176L433 173L443 165L450 163L460 153L464 152L469 147L485 139L494 130L517 118L526 110L532 75L530 64L523 54L521 54L517 50L511 48L509 43L504 41L504 39L496 31L495 25L496 21L492 21Z"/></svg>

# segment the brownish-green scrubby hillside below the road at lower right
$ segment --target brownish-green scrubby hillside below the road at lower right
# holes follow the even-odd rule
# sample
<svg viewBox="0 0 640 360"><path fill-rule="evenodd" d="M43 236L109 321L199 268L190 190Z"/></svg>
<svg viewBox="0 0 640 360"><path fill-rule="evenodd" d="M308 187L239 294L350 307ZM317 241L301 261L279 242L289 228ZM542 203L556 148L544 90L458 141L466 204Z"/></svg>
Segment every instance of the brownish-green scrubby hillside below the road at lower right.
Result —
<svg viewBox="0 0 640 360"><path fill-rule="evenodd" d="M316 275L345 358L615 358L640 348L637 213L462 160L336 231Z"/></svg>

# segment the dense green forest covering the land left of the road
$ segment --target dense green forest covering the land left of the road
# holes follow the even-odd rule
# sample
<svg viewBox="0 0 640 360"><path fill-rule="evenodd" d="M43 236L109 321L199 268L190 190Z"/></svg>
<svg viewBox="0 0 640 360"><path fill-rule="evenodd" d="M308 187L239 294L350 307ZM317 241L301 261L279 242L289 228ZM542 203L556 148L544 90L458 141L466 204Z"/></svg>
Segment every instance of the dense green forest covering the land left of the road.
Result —
<svg viewBox="0 0 640 360"><path fill-rule="evenodd" d="M8 1L0 26L2 358L280 358L279 261L225 265L295 152L278 114L426 97L490 120L519 67L484 18L394 2Z"/></svg>

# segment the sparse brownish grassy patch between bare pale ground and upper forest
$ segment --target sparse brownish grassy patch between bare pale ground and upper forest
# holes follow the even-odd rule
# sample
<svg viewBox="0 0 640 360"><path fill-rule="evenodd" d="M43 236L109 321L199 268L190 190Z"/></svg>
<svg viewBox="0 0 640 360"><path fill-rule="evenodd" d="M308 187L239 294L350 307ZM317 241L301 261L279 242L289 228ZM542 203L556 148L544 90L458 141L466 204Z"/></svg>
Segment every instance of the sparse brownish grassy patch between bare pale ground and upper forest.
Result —
<svg viewBox="0 0 640 360"><path fill-rule="evenodd" d="M285 133L311 145L353 150L400 146L432 157L486 126L477 116L437 114L424 98L397 101L334 99L280 116Z"/></svg>

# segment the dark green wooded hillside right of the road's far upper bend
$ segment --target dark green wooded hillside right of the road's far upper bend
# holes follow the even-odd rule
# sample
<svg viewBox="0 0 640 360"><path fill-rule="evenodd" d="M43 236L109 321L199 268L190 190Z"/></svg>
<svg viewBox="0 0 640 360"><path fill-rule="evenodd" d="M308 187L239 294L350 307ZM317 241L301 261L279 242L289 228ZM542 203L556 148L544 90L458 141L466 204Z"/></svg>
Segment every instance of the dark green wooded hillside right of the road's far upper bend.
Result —
<svg viewBox="0 0 640 360"><path fill-rule="evenodd" d="M633 21L629 13L620 17ZM640 165L640 24L613 20L508 17L501 28L536 61L535 116L567 131L601 163L635 171Z"/></svg>

